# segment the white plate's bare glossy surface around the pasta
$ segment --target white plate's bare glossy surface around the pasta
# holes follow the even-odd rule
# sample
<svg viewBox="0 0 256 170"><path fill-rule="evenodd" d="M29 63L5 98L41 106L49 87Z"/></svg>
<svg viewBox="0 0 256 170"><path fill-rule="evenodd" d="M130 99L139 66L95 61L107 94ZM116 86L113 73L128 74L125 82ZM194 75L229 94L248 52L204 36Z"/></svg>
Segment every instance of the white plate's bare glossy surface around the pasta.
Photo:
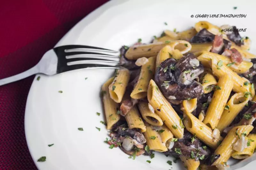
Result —
<svg viewBox="0 0 256 170"><path fill-rule="evenodd" d="M237 6L234 10L233 7ZM118 50L131 45L138 38L149 42L164 29L185 30L200 20L213 24L236 25L247 28L243 36L256 41L255 1L171 1L171 0L114 0L101 6L80 21L57 44L86 44ZM246 18L191 18L193 14L247 14ZM168 25L164 25L167 22ZM253 43L255 44L255 43ZM253 49L251 49L253 52ZM256 52L254 50L254 52ZM75 70L55 76L40 75L34 80L27 100L25 132L31 156L40 170L95 170L95 169L157 169L179 170L181 163L163 154L154 159L140 156L128 159L120 149L109 149L103 143L107 130L100 99L101 85L113 70ZM85 78L88 77L87 80ZM62 90L63 93L58 91ZM101 115L96 115L100 112ZM82 127L84 131L77 128ZM98 131L95 127L101 128ZM48 147L48 144L54 145ZM37 162L46 156L45 162ZM151 164L146 162L151 160ZM255 169L256 161L244 168Z"/></svg>

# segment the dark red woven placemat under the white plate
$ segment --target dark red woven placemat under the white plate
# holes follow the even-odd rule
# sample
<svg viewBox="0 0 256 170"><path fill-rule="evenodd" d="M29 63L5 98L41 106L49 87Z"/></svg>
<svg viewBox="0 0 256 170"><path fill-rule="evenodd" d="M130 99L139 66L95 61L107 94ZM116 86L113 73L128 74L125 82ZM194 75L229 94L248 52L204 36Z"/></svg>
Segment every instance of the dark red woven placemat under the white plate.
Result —
<svg viewBox="0 0 256 170"><path fill-rule="evenodd" d="M34 66L79 20L108 0L8 0L0 5L0 79ZM0 86L0 169L32 170L24 112L34 76Z"/></svg>

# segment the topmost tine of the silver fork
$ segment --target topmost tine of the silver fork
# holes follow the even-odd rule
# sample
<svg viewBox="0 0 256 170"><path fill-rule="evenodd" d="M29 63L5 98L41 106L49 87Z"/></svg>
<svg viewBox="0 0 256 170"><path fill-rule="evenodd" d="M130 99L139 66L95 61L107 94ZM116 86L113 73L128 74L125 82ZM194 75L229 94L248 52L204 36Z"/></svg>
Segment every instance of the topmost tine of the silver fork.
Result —
<svg viewBox="0 0 256 170"><path fill-rule="evenodd" d="M106 48L100 48L100 47L93 47L93 46L85 46L85 45L66 45L66 46L60 46L57 48L62 48L66 53L68 52L77 52L77 51L104 51L104 52L110 52L110 53L118 53L117 51L106 49Z"/></svg>

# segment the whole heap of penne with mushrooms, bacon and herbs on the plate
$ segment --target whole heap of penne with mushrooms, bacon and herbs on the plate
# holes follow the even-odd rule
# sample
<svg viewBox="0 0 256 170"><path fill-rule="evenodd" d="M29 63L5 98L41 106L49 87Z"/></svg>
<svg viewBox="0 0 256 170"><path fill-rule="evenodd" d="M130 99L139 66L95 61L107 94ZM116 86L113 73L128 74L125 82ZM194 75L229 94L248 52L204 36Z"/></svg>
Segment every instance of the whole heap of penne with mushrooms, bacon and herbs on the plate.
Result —
<svg viewBox="0 0 256 170"><path fill-rule="evenodd" d="M101 91L109 148L131 159L162 152L188 170L226 169L231 157L250 157L256 55L249 48L236 26L206 21L182 32L165 30L149 44L139 39L123 46L122 68Z"/></svg>

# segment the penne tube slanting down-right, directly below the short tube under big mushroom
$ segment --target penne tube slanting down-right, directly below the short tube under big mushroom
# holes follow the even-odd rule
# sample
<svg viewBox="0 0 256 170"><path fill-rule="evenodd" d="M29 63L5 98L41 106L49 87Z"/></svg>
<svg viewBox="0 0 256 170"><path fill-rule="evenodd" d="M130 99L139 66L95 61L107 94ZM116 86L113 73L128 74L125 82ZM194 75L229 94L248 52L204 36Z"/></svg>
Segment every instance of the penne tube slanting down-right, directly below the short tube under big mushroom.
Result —
<svg viewBox="0 0 256 170"><path fill-rule="evenodd" d="M203 122L198 120L194 115L188 112L184 112L184 125L186 129L192 133L196 134L196 137L203 141L205 144L210 146L211 148L215 149L218 147L220 139L214 139L212 137L212 129L206 126Z"/></svg>

